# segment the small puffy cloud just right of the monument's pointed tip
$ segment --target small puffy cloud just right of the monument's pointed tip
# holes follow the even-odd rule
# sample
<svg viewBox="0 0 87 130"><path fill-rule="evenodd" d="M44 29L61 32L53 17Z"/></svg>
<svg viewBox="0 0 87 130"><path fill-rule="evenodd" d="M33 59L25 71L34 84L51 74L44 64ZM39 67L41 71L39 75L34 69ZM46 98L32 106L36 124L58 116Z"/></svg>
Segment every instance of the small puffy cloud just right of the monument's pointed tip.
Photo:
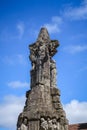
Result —
<svg viewBox="0 0 87 130"><path fill-rule="evenodd" d="M48 29L49 33L58 33L60 32L61 23L62 23L62 18L59 16L54 16L52 17L50 23L44 24L44 27Z"/></svg>

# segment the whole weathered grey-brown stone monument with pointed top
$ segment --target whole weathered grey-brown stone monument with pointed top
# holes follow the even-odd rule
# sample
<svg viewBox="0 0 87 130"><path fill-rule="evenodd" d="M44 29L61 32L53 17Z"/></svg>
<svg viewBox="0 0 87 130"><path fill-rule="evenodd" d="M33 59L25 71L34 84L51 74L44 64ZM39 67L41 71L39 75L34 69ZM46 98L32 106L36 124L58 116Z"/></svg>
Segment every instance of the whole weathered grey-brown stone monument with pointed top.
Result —
<svg viewBox="0 0 87 130"><path fill-rule="evenodd" d="M59 42L50 39L46 28L41 28L37 41L29 46L31 89L26 92L17 130L68 130L56 85L56 63L52 59L58 46Z"/></svg>

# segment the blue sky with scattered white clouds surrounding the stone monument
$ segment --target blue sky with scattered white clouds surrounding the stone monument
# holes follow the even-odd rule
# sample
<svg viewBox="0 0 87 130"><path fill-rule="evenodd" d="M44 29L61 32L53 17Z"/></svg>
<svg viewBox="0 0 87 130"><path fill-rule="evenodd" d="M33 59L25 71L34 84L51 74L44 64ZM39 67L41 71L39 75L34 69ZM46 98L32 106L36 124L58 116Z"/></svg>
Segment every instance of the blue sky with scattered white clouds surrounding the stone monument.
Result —
<svg viewBox="0 0 87 130"><path fill-rule="evenodd" d="M30 89L28 45L41 27L60 42L57 86L70 123L87 122L87 0L0 0L0 130L15 130Z"/></svg>

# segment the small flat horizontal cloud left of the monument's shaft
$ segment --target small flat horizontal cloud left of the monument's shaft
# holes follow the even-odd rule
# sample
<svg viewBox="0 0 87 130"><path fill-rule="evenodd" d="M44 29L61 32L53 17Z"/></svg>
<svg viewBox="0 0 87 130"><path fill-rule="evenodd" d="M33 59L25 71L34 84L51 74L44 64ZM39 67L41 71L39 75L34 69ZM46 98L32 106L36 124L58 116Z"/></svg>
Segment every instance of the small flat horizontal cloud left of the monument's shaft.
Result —
<svg viewBox="0 0 87 130"><path fill-rule="evenodd" d="M24 88L29 87L29 83L27 82L20 82L20 81L12 81L7 84L9 87L12 88Z"/></svg>

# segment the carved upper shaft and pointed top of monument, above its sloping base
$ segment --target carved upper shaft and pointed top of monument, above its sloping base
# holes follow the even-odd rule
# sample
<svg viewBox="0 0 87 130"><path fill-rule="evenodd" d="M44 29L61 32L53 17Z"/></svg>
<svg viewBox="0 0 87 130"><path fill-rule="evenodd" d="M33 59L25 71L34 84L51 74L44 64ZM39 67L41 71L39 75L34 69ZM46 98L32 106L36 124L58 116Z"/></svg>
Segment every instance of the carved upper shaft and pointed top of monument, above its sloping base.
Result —
<svg viewBox="0 0 87 130"><path fill-rule="evenodd" d="M46 29L42 28L36 43L29 46L31 70L31 88L36 84L45 84L45 80L51 86L56 87L56 64L52 56L57 52L59 46L57 40L50 40Z"/></svg>

